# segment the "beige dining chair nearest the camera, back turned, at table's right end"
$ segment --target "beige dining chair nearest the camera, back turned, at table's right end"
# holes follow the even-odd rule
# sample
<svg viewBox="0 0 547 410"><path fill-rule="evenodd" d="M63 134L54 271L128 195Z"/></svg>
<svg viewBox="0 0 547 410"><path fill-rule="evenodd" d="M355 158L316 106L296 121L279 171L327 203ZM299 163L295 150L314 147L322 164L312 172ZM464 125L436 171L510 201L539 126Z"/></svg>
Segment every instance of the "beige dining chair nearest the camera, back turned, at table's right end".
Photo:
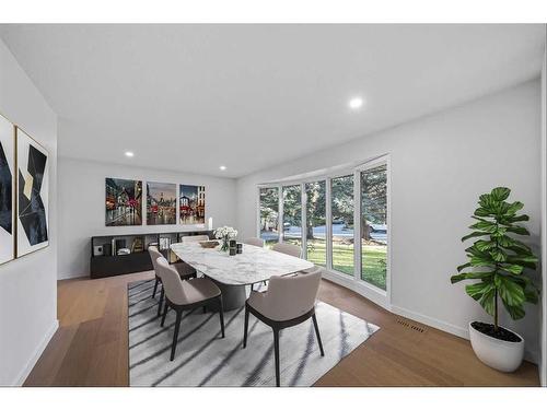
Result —
<svg viewBox="0 0 547 410"><path fill-rule="evenodd" d="M271 327L274 331L274 351L276 359L276 385L279 387L279 331L300 325L310 317L313 320L315 335L324 356L317 318L315 317L315 298L319 289L321 271L290 277L271 277L268 292L251 292L245 303L245 325L243 330L243 349L247 345L248 315Z"/></svg>

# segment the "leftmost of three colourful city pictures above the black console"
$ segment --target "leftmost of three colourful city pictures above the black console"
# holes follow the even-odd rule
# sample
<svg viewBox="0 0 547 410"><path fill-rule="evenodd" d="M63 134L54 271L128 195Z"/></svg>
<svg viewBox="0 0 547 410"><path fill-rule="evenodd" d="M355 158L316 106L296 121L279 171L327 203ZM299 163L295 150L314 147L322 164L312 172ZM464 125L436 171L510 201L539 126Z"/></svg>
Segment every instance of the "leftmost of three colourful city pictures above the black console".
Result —
<svg viewBox="0 0 547 410"><path fill-rule="evenodd" d="M106 178L106 226L142 225L142 181Z"/></svg>

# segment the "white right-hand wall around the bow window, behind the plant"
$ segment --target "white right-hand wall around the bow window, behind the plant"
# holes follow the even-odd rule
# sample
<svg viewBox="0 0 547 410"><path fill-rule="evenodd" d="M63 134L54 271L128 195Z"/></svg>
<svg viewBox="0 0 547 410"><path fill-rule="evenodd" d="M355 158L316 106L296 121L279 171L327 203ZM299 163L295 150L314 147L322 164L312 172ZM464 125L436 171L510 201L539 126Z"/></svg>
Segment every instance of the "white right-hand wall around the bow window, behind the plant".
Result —
<svg viewBox="0 0 547 410"><path fill-rule="evenodd" d="M531 215L529 241L539 248L539 90L538 80L526 82L240 178L237 227L243 236L256 234L259 183L389 153L392 307L466 337L469 320L487 317L450 277L465 261L459 238L468 232L478 196L494 186L512 188L511 198L523 201ZM503 323L523 333L527 356L537 360L538 307L527 312L519 323Z"/></svg>

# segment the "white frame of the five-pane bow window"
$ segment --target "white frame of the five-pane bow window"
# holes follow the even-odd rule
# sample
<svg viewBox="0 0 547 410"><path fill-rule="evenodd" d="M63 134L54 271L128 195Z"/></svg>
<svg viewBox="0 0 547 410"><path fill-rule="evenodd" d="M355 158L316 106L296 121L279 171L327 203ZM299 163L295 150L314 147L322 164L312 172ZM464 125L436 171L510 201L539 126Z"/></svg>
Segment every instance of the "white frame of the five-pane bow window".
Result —
<svg viewBox="0 0 547 410"><path fill-rule="evenodd" d="M386 290L374 286L361 279L361 262L362 262L362 247L361 247L361 172L373 168L375 166L386 164L387 172L387 262L386 262ZM338 272L333 269L333 198L331 198L331 180L342 176L353 175L353 276ZM362 164L337 169L336 173L326 173L316 175L309 178L288 179L280 183L260 184L257 187L257 237L260 237L260 189L263 188L278 188L279 204L278 204L278 242L283 241L284 226L283 226L283 187L300 185L301 187L301 212L302 212L302 257L307 258L307 229L306 229L306 207L307 198L305 192L305 184L325 181L325 242L326 242L326 271L325 279L331 280L338 284L349 288L372 302L389 308L391 307L391 293L392 293L392 173L391 173L391 157L389 154L380 155L365 161Z"/></svg>

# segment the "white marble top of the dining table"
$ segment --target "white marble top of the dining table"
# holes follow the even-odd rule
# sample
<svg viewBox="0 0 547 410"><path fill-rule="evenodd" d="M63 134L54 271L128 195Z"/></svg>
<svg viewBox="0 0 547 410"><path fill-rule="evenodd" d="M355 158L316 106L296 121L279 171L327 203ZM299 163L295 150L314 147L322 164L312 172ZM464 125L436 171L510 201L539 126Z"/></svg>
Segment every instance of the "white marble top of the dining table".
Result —
<svg viewBox="0 0 547 410"><path fill-rule="evenodd" d="M171 249L198 272L224 284L252 284L310 269L312 262L275 250L243 244L243 253L230 256L219 247L206 249L195 244L173 244Z"/></svg>

